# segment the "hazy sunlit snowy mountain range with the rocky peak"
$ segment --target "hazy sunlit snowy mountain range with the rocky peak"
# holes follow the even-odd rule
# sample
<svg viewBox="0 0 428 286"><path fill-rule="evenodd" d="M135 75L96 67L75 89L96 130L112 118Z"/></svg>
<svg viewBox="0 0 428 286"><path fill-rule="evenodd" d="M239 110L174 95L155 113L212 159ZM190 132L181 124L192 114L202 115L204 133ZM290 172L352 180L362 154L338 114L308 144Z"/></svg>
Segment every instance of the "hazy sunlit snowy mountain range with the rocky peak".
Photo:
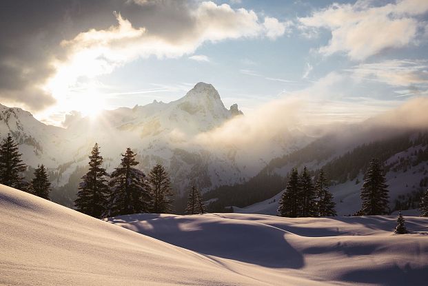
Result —
<svg viewBox="0 0 428 286"><path fill-rule="evenodd" d="M20 143L26 164L45 164L54 186L52 198L71 205L96 142L101 145L108 171L119 164L126 147L132 147L143 171L162 163L172 175L175 192L181 193L192 184L204 191L245 181L274 156L292 152L311 140L301 133L283 134L267 152L256 154L233 144L213 147L197 139L198 134L241 115L236 104L225 108L212 85L197 83L176 101L105 110L96 119L70 116L66 128L45 125L29 112L1 105L0 134L11 133Z"/></svg>

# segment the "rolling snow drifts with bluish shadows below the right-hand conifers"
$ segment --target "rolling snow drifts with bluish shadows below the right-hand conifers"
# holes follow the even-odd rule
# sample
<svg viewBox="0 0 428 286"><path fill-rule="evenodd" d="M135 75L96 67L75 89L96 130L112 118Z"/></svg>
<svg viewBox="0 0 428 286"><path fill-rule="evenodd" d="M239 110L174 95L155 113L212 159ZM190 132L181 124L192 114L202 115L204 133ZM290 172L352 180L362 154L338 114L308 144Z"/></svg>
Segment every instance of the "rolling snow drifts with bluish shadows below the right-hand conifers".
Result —
<svg viewBox="0 0 428 286"><path fill-rule="evenodd" d="M108 221L192 249L267 285L425 285L428 218L136 214ZM256 285L256 284L255 284Z"/></svg>

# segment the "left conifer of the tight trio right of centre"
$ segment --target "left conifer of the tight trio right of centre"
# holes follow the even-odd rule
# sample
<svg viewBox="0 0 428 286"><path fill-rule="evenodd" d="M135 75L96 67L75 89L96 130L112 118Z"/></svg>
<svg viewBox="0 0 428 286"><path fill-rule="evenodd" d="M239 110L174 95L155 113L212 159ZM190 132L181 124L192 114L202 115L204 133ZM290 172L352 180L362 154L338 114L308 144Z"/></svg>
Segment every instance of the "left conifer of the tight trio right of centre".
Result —
<svg viewBox="0 0 428 286"><path fill-rule="evenodd" d="M297 169L294 168L291 174L289 174L287 187L285 192L283 192L283 196L281 196L281 201L279 201L278 216L288 216L290 218L298 216L299 194L300 179Z"/></svg>

